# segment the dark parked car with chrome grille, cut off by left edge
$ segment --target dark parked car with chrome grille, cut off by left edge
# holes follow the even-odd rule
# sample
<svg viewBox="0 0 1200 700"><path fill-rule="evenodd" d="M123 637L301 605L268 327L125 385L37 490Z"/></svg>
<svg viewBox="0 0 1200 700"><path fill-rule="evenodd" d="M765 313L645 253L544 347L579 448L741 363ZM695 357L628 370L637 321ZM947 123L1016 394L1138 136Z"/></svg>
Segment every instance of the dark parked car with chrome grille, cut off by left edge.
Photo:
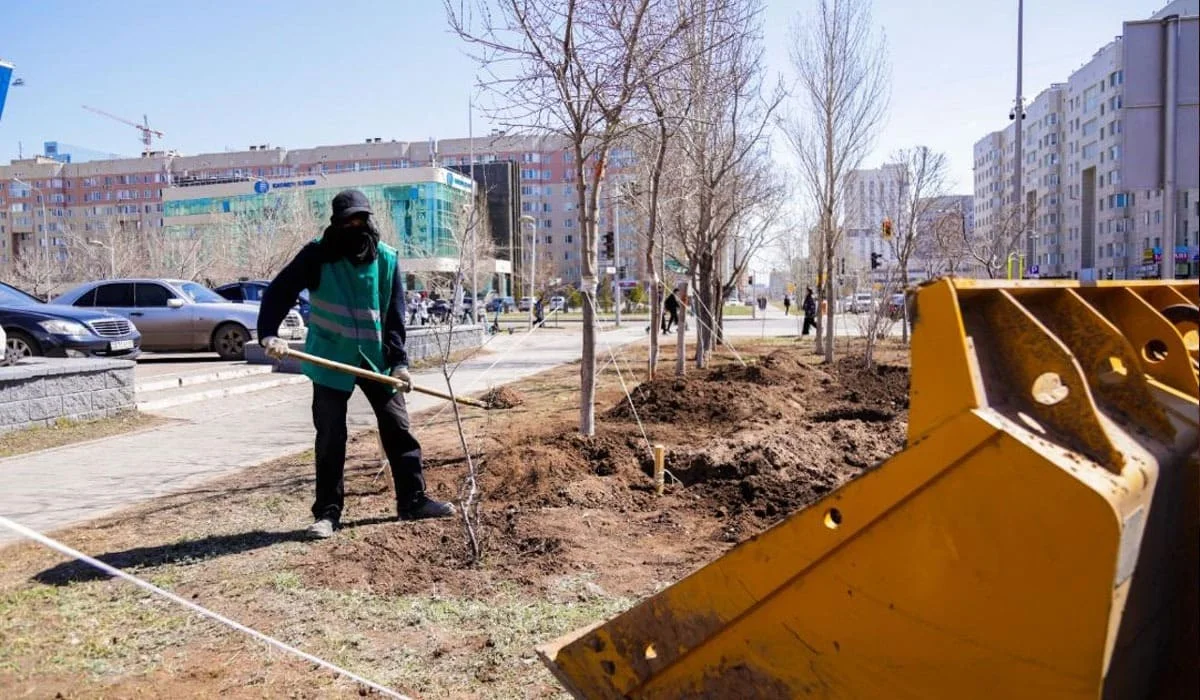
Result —
<svg viewBox="0 0 1200 700"><path fill-rule="evenodd" d="M47 304L0 282L4 361L46 355L132 360L142 353L142 334L128 319L74 306Z"/></svg>

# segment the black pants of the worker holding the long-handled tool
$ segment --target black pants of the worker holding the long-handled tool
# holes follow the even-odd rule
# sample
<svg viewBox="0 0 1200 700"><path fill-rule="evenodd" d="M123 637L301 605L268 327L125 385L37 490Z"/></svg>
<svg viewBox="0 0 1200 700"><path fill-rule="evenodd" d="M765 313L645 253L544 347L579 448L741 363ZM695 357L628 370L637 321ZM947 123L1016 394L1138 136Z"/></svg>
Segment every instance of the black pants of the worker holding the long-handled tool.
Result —
<svg viewBox="0 0 1200 700"><path fill-rule="evenodd" d="M396 485L396 503L403 508L425 495L421 474L421 444L416 442L408 423L404 394L370 379L359 379L359 389L374 409L379 425L383 451L391 466ZM314 519L342 516L346 485L346 405L354 391L342 391L320 384L312 385L312 424L317 429L317 499L312 504Z"/></svg>

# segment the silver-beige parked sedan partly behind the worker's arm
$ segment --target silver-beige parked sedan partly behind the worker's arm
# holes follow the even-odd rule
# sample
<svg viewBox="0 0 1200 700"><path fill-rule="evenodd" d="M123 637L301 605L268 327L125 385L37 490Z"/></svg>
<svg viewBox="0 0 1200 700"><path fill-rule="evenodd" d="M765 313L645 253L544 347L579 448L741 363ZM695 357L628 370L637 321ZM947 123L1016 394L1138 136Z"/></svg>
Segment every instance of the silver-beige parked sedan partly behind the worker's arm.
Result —
<svg viewBox="0 0 1200 700"><path fill-rule="evenodd" d="M148 351L214 351L221 359L241 360L254 340L258 306L234 304L203 285L185 280L104 280L66 292L58 304L106 309L127 317L142 331ZM304 319L295 310L280 337L300 340Z"/></svg>

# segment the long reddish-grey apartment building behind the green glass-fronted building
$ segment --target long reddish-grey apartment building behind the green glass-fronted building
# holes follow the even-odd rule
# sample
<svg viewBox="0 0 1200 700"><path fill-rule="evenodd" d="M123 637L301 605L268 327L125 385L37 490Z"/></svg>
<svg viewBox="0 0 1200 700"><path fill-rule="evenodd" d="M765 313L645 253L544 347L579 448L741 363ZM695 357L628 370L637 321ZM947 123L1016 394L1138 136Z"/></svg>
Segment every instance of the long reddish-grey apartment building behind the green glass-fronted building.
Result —
<svg viewBox="0 0 1200 700"><path fill-rule="evenodd" d="M613 267L623 270L626 280L637 280L642 276L643 241L634 217L629 213L618 215L617 198L612 196L632 154L614 149L610 158L599 231L601 235L614 231L619 219L619 250ZM89 162L62 162L49 156L12 161L0 166L0 268L23 252L42 247L61 251L67 228L86 234L113 221L137 228L162 227L164 192L172 187L343 173L365 173L356 180L370 184L370 173L376 170L439 166L463 172L463 166L473 162L505 161L516 163L520 184L511 202L521 215L534 221L518 231L511 231L511 222L508 226L515 279L526 279L536 235L539 283L578 282L581 228L574 152L560 138L502 133L437 142L368 138L358 144L294 150L252 145L240 151L191 156L155 151L139 158Z"/></svg>

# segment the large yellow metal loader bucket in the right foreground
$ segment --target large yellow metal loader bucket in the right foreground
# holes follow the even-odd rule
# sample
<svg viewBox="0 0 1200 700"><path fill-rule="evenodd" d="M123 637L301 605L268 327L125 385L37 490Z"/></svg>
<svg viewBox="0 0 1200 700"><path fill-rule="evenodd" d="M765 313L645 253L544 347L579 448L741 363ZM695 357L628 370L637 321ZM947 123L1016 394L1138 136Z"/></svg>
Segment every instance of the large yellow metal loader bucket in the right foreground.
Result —
<svg viewBox="0 0 1200 700"><path fill-rule="evenodd" d="M539 653L578 698L1200 696L1196 306L922 287L907 449Z"/></svg>

